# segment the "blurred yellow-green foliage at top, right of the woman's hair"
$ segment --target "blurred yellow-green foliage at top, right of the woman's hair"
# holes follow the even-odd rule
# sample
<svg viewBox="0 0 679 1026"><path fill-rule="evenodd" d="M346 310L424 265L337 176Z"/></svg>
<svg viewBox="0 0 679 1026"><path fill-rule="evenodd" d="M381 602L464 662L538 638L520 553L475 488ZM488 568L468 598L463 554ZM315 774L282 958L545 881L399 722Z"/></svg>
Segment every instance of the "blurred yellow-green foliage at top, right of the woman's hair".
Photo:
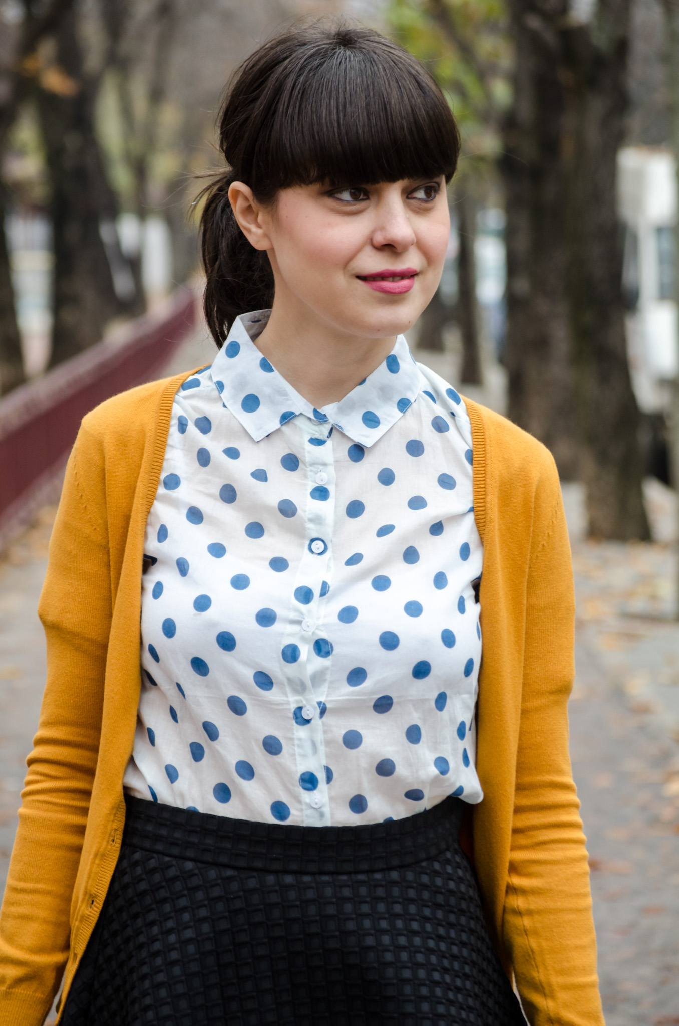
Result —
<svg viewBox="0 0 679 1026"><path fill-rule="evenodd" d="M389 0L386 21L443 89L464 157L494 160L512 101L513 49L503 0Z"/></svg>

